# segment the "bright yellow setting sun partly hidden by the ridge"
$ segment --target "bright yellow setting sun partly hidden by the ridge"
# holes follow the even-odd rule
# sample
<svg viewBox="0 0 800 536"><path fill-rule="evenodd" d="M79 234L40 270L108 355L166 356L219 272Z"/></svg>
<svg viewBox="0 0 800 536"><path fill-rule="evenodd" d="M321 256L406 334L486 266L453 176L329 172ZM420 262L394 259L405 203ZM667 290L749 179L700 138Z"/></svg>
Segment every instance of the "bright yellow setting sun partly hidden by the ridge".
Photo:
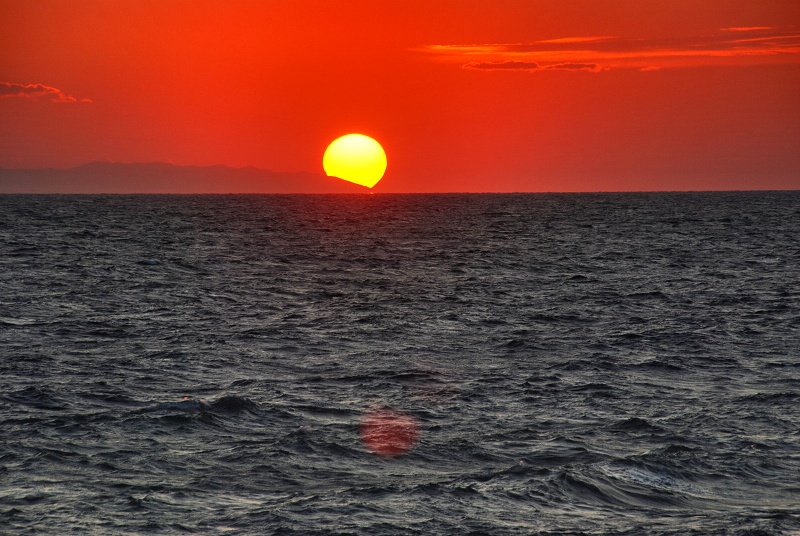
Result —
<svg viewBox="0 0 800 536"><path fill-rule="evenodd" d="M322 167L329 177L372 188L386 171L386 153L381 144L369 136L346 134L328 145Z"/></svg>

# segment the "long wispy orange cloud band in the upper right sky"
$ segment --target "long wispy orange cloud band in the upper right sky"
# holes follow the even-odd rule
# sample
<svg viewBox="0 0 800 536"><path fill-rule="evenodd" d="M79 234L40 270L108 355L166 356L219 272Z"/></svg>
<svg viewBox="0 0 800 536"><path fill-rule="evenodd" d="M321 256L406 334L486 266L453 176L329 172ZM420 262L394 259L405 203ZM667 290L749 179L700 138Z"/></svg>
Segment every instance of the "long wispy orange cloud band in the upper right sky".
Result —
<svg viewBox="0 0 800 536"><path fill-rule="evenodd" d="M422 51L480 71L653 71L710 65L800 63L800 33L771 26L721 28L695 39L580 36L531 43L428 45Z"/></svg>

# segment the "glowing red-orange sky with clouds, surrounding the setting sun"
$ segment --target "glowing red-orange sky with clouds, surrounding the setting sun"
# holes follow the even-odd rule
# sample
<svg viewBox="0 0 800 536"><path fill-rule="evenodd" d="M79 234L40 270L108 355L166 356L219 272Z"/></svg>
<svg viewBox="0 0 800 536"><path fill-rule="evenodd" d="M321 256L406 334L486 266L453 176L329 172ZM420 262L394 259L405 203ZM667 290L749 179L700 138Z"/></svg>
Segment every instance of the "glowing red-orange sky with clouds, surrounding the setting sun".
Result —
<svg viewBox="0 0 800 536"><path fill-rule="evenodd" d="M376 192L800 188L797 0L0 0L0 167L322 173Z"/></svg>

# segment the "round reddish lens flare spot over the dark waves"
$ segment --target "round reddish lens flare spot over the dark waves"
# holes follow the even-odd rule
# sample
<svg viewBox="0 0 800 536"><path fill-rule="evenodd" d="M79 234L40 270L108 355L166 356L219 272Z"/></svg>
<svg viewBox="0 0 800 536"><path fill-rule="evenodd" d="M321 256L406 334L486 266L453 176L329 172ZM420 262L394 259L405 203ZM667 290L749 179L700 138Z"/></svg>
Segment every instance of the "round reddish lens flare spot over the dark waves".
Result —
<svg viewBox="0 0 800 536"><path fill-rule="evenodd" d="M407 413L378 408L361 418L361 440L373 454L395 457L406 454L419 441L419 423Z"/></svg>

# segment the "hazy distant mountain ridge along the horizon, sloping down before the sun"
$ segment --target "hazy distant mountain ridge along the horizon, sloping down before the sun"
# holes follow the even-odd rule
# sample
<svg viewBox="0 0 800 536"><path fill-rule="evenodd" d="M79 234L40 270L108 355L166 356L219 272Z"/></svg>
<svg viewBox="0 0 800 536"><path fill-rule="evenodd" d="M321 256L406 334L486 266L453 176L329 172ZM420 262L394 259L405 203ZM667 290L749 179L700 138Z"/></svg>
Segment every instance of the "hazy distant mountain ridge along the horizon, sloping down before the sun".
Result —
<svg viewBox="0 0 800 536"><path fill-rule="evenodd" d="M89 162L69 169L0 168L0 193L309 194L365 193L363 186L308 172L166 162Z"/></svg>

